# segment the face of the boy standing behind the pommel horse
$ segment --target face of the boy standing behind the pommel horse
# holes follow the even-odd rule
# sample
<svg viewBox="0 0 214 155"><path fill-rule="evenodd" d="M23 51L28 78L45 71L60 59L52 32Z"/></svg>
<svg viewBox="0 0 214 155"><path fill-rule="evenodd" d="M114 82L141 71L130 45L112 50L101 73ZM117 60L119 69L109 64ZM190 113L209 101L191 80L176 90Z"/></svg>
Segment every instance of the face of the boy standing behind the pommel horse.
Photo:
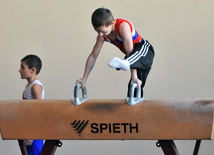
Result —
<svg viewBox="0 0 214 155"><path fill-rule="evenodd" d="M28 79L33 75L33 69L29 69L25 62L21 61L20 66L19 73L22 79Z"/></svg>

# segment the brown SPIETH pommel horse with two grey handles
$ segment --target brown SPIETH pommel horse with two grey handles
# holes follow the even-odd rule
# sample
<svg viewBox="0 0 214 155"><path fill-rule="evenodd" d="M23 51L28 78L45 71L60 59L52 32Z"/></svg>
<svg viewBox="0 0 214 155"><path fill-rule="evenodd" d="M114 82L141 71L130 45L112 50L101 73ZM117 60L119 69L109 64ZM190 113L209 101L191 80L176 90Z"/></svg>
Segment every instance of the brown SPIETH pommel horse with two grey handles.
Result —
<svg viewBox="0 0 214 155"><path fill-rule="evenodd" d="M179 154L173 140L196 140L197 155L201 140L213 139L212 99L88 99L86 88L80 99L79 87L74 100L0 101L2 139L44 139L41 155L54 154L59 140L158 140L166 155Z"/></svg>

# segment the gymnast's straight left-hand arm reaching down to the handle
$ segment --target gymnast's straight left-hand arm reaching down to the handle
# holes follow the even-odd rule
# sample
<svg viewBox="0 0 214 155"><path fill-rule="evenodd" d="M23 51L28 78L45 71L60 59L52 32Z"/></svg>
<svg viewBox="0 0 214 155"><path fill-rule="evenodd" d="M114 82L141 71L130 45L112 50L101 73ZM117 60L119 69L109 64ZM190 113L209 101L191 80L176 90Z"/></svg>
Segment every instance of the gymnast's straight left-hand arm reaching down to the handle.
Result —
<svg viewBox="0 0 214 155"><path fill-rule="evenodd" d="M85 86L87 78L88 78L91 70L94 67L94 64L95 64L96 59L97 59L97 57L98 57L98 55L100 53L100 50L101 50L101 48L103 46L103 43L104 43L103 37L98 35L96 43L95 43L95 45L93 47L93 50L92 50L91 54L88 56L88 59L86 61L83 77L76 81L76 83L79 83L79 82L82 83L82 87L81 88L83 88Z"/></svg>

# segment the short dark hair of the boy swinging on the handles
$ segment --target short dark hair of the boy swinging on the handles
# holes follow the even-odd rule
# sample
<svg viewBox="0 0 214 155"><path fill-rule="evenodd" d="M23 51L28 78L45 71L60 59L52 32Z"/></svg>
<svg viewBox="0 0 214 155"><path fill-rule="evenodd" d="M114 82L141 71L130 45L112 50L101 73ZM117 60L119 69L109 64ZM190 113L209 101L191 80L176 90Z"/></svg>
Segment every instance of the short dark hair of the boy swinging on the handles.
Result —
<svg viewBox="0 0 214 155"><path fill-rule="evenodd" d="M94 28L100 26L109 26L112 24L114 17L109 9L98 8L96 9L91 16L91 23Z"/></svg>

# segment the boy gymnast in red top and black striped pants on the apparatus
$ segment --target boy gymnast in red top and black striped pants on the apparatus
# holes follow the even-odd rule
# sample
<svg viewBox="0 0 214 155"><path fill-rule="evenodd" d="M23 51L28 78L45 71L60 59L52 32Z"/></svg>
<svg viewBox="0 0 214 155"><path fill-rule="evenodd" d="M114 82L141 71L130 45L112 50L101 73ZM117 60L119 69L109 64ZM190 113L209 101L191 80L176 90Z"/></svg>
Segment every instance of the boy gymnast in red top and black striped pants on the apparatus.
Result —
<svg viewBox="0 0 214 155"><path fill-rule="evenodd" d="M137 87L142 89L141 96L143 97L143 87L154 58L152 45L138 34L130 21L122 18L115 20L108 9L98 8L95 10L91 21L98 36L94 48L86 61L83 77L77 80L77 83L81 82L82 88L85 86L103 43L107 41L117 46L126 55L124 60L117 57L112 58L108 65L125 71L131 69L128 95L130 84L137 83Z"/></svg>

